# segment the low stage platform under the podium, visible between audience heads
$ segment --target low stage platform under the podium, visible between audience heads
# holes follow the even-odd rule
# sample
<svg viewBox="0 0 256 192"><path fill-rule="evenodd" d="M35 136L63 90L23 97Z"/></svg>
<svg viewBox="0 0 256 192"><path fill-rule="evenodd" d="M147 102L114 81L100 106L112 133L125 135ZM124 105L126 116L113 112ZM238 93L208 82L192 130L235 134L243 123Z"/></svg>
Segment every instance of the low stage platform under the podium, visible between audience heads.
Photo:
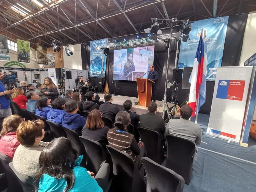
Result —
<svg viewBox="0 0 256 192"><path fill-rule="evenodd" d="M98 93L98 95L100 96L100 100L101 101L104 101L104 95L103 93ZM123 107L123 104L124 104L124 101L126 100L131 100L132 101L132 111L133 112L136 112L137 114L141 115L141 114L145 114L148 112L148 109L143 107L143 106L139 106L139 105L134 105L134 102L138 102L138 98L137 97L127 97L127 96L121 96L121 95L118 95L118 96L115 96L115 95L112 95L113 97L113 104L117 105L117 107L120 109L120 110L123 110L124 107ZM161 116L162 113L163 113L163 103L161 103L162 101L157 101L156 100L156 104L157 104L157 116ZM171 111L171 108L173 106L172 103L169 103L167 102L168 104L168 107ZM165 110L166 111L166 110Z"/></svg>

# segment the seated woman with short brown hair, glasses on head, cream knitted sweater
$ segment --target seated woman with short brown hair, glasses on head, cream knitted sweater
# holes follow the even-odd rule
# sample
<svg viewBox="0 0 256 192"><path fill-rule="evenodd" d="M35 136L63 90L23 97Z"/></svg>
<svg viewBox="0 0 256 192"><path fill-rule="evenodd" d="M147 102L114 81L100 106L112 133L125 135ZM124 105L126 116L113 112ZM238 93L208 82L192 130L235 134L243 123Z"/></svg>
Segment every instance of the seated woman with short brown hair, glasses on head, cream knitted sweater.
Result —
<svg viewBox="0 0 256 192"><path fill-rule="evenodd" d="M20 145L14 153L13 167L17 172L34 177L39 168L39 156L47 143L44 138L44 122L41 120L22 122L17 129Z"/></svg>

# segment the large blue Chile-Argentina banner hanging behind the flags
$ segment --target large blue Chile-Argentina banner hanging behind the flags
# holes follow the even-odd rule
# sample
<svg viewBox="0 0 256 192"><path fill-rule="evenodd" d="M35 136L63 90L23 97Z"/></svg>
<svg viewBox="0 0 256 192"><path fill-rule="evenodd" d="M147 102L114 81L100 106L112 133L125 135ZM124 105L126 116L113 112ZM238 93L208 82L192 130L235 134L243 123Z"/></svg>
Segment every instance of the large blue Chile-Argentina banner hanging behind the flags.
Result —
<svg viewBox="0 0 256 192"><path fill-rule="evenodd" d="M191 23L190 39L181 42L178 68L193 67L195 53L202 30L206 31L207 73L206 81L215 81L216 69L221 66L226 39L228 17L216 17Z"/></svg>

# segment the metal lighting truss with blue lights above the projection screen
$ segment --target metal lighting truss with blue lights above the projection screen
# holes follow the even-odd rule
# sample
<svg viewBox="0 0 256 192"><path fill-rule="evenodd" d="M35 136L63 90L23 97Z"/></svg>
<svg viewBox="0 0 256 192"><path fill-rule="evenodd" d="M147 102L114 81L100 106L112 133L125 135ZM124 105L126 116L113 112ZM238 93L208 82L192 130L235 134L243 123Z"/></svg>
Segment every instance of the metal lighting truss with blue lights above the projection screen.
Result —
<svg viewBox="0 0 256 192"><path fill-rule="evenodd" d="M180 32L178 32L180 34ZM176 33L172 34L172 39L176 39ZM179 38L182 38L182 35L180 35ZM146 38L140 38L140 39L134 39L134 40L127 40L127 41L122 41L122 42L116 42L116 43L110 43L110 44L104 44L104 45L98 45L99 48L104 48L104 47L108 47L108 48L125 48L128 46L135 46L135 45L150 45L153 44L154 42L158 42L158 41L164 41L165 39L170 39L170 34L168 35L160 35L160 36L156 36L156 39L150 39L149 37Z"/></svg>

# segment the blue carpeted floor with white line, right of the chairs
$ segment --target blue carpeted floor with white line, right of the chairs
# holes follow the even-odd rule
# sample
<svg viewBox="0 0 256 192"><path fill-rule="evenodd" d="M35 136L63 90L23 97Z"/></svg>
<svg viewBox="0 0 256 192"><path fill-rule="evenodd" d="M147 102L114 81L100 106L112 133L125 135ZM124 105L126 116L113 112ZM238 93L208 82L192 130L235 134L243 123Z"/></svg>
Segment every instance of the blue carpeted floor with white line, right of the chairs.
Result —
<svg viewBox="0 0 256 192"><path fill-rule="evenodd" d="M192 118L195 121L195 118ZM256 141L249 138L249 147L206 135L209 115L199 114L202 141L197 161L184 192L255 192ZM216 153L217 152L217 153Z"/></svg>

